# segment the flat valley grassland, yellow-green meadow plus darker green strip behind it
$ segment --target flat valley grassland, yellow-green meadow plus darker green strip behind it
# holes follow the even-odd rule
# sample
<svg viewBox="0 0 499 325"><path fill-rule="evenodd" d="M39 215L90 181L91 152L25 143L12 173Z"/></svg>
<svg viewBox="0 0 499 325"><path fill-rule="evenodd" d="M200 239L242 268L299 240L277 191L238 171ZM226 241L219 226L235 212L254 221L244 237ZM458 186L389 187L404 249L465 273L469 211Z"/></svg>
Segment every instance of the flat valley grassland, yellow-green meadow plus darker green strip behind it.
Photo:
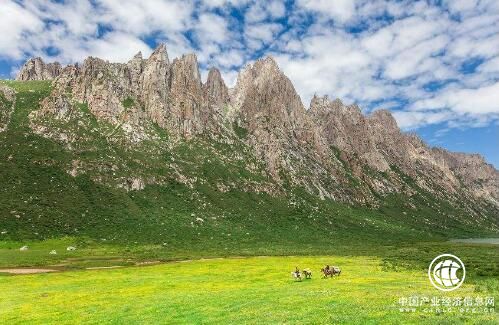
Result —
<svg viewBox="0 0 499 325"><path fill-rule="evenodd" d="M400 243L338 247L328 256L273 256L170 261L180 252L143 246L87 246L67 252L72 238L0 245L0 266L43 265L58 273L0 276L0 323L480 323L497 312L401 312L400 298L499 298L498 245ZM15 249L13 247L16 247ZM57 255L49 255L57 249ZM289 248L288 248L289 249ZM318 250L317 250L318 251ZM288 250L288 254L291 251ZM440 253L458 255L465 284L452 293L433 288L426 268ZM285 253L284 251L282 253ZM305 252L297 251L299 254ZM202 256L178 255L177 258ZM205 253L206 254L206 253ZM230 251L228 254L236 254ZM222 254L219 254L221 256ZM209 256L209 255L205 255ZM213 256L216 256L213 253ZM144 261L161 264L137 266ZM334 264L342 275L321 279ZM88 270L89 267L122 266ZM295 266L313 269L312 280L295 283ZM2 273L0 272L0 275Z"/></svg>

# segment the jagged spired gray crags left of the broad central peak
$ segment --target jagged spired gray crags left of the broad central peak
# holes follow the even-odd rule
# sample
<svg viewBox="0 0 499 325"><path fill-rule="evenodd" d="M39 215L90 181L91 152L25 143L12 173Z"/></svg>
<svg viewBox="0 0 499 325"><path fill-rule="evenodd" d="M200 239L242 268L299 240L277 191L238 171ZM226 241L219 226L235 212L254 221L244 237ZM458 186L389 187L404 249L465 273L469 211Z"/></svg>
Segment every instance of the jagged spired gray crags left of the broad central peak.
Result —
<svg viewBox="0 0 499 325"><path fill-rule="evenodd" d="M112 124L133 129L149 121L185 137L202 132L209 107L196 56L170 63L164 44L146 60L141 53L125 64L89 57L81 66L66 67L43 112L63 118L70 113L70 100L88 104L98 119Z"/></svg>

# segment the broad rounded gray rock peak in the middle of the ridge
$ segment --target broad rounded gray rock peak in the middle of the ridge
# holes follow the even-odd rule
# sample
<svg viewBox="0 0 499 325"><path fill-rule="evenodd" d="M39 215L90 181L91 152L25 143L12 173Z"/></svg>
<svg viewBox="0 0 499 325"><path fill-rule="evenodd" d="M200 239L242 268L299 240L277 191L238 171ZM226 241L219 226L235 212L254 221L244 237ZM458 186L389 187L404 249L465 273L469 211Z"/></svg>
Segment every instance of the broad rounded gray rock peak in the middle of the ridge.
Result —
<svg viewBox="0 0 499 325"><path fill-rule="evenodd" d="M251 145L274 177L279 177L281 168L294 170L289 165L292 160L303 162L303 155L324 155L323 138L293 84L271 57L248 65L239 74L231 102L249 131Z"/></svg>

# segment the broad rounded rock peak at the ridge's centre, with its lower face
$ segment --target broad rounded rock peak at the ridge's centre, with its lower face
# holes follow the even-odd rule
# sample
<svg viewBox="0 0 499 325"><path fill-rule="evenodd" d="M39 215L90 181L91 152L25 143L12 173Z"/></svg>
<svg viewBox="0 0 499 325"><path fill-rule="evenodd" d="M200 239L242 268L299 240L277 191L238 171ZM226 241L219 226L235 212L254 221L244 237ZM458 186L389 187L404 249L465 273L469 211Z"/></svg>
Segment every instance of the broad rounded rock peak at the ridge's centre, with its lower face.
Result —
<svg viewBox="0 0 499 325"><path fill-rule="evenodd" d="M339 162L331 159L325 139L272 58L259 60L239 74L231 105L237 123L248 131L248 143L274 179L335 196L324 188L322 178Z"/></svg>

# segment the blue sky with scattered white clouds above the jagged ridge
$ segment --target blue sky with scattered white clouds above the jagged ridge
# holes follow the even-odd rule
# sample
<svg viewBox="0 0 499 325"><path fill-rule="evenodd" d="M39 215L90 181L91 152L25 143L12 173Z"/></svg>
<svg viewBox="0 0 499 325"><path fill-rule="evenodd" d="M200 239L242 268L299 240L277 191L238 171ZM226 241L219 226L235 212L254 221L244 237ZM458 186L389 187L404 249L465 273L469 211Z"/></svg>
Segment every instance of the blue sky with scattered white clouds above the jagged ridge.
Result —
<svg viewBox="0 0 499 325"><path fill-rule="evenodd" d="M160 43L229 86L272 55L306 107L314 94L393 111L430 145L499 167L499 1L0 0L0 76L31 56L125 62Z"/></svg>

